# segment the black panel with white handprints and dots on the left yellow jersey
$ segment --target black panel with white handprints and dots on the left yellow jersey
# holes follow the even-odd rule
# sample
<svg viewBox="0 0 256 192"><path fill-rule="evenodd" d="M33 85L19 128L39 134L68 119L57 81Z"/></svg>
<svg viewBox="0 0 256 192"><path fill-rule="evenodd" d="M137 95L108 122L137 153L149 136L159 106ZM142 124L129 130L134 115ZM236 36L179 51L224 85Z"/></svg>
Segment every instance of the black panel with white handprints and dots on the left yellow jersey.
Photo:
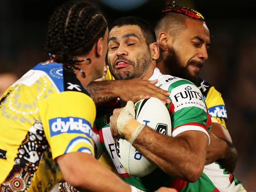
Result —
<svg viewBox="0 0 256 192"><path fill-rule="evenodd" d="M24 191L30 186L30 181L38 169L42 154L49 148L43 126L39 121L28 130L22 141L15 165L0 186L1 191Z"/></svg>

